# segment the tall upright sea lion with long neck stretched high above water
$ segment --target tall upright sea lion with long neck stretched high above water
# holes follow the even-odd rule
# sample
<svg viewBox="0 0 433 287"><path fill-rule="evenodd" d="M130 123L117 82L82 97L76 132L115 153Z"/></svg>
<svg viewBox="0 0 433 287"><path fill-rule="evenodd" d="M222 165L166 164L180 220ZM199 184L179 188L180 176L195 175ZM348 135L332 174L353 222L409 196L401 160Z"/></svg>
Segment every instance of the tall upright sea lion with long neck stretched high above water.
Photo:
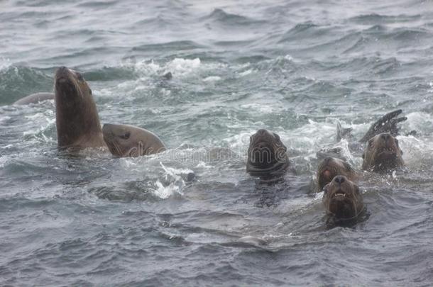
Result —
<svg viewBox="0 0 433 287"><path fill-rule="evenodd" d="M54 89L58 147L106 147L92 90L82 74L58 68Z"/></svg>

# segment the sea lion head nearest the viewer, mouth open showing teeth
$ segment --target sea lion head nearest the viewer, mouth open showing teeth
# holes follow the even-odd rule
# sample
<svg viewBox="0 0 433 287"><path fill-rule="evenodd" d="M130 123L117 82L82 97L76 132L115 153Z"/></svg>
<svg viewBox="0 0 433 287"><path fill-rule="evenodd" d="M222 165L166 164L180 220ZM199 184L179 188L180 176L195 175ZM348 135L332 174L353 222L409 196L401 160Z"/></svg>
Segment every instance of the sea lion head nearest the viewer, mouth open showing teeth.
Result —
<svg viewBox="0 0 433 287"><path fill-rule="evenodd" d="M351 220L363 210L361 192L346 176L335 176L324 187L322 201L327 214L338 220Z"/></svg>

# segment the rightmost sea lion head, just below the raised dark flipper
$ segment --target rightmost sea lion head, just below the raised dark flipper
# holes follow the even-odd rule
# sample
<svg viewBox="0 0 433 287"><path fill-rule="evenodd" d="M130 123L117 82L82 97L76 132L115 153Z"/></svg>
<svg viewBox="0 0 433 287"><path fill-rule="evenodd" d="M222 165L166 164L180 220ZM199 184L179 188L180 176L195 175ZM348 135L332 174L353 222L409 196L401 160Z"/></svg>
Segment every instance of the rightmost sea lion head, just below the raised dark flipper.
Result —
<svg viewBox="0 0 433 287"><path fill-rule="evenodd" d="M363 154L362 169L385 173L402 167L402 150L398 140L390 133L380 133L368 140Z"/></svg>

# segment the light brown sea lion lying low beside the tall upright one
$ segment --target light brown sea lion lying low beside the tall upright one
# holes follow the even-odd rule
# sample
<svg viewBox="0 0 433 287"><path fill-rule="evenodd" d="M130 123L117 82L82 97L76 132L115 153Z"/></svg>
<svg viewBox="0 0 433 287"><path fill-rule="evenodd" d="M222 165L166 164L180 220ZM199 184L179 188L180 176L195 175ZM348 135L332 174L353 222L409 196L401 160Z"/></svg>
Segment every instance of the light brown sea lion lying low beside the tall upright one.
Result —
<svg viewBox="0 0 433 287"><path fill-rule="evenodd" d="M102 133L111 154L116 157L139 157L166 150L157 135L132 125L106 123Z"/></svg>

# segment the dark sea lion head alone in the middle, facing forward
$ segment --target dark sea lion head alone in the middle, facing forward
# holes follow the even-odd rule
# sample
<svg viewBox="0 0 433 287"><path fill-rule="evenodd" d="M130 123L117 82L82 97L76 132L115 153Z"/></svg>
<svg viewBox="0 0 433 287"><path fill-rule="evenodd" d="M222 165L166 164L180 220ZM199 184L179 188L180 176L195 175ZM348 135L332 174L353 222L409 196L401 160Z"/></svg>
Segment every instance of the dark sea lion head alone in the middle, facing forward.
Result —
<svg viewBox="0 0 433 287"><path fill-rule="evenodd" d="M253 176L272 177L285 173L290 162L280 136L258 130L250 137L246 171Z"/></svg>

